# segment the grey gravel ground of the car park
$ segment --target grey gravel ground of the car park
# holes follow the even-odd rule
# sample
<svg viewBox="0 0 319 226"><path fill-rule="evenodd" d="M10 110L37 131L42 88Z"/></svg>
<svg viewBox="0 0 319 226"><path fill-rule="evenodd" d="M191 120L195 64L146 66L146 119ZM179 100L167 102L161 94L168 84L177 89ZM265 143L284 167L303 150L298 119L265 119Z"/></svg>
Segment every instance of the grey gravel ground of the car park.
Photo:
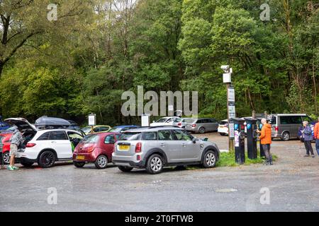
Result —
<svg viewBox="0 0 319 226"><path fill-rule="evenodd" d="M204 136L228 149L227 137ZM169 168L157 175L67 162L1 169L0 211L319 211L318 155L303 157L299 141L274 141L272 153L278 157L272 166ZM50 188L57 204L49 204Z"/></svg>

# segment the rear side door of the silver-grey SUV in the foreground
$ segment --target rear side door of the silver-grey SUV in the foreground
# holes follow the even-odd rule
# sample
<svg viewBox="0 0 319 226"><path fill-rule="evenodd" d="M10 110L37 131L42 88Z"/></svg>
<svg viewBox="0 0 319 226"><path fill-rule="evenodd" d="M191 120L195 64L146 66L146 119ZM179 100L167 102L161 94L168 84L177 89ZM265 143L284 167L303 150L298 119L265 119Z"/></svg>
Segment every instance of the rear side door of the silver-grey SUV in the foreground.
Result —
<svg viewBox="0 0 319 226"><path fill-rule="evenodd" d="M181 148L170 130L158 131L158 147L167 155L168 162L179 162Z"/></svg>

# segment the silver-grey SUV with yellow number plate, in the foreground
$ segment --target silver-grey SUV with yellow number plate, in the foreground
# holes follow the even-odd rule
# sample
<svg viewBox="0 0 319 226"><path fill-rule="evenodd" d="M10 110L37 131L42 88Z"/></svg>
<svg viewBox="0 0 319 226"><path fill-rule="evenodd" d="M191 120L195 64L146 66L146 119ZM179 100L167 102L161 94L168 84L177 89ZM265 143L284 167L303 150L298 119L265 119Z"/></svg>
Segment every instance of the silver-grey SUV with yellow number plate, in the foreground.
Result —
<svg viewBox="0 0 319 226"><path fill-rule="evenodd" d="M147 169L150 174L163 167L203 165L211 168L219 159L216 143L201 141L175 126L145 127L125 131L114 145L112 161L123 172Z"/></svg>

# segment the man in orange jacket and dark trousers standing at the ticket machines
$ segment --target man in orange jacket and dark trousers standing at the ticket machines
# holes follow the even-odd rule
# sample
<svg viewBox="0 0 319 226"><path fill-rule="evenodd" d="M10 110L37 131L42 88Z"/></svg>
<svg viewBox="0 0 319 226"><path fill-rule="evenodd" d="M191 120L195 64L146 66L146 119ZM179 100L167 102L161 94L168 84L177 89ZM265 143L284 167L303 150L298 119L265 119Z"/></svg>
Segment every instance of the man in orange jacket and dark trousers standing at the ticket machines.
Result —
<svg viewBox="0 0 319 226"><path fill-rule="evenodd" d="M272 143L272 126L267 124L266 119L262 119L262 131L257 130L261 133L259 136L264 155L266 156L266 165L272 165L272 154L270 153L270 144Z"/></svg>

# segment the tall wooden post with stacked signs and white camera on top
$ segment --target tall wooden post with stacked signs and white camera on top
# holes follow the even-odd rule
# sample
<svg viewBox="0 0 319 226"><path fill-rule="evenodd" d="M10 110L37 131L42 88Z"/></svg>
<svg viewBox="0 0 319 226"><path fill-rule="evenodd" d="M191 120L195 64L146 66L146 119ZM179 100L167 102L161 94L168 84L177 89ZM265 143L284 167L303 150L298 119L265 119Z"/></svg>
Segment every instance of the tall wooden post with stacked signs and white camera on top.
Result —
<svg viewBox="0 0 319 226"><path fill-rule="evenodd" d="M227 88L227 119L228 119L228 148L230 152L234 151L234 138L235 138L235 129L234 129L234 119L236 117L235 112L235 89L232 85L231 76L233 69L229 65L223 65L220 67L223 69L223 83L226 84Z"/></svg>

